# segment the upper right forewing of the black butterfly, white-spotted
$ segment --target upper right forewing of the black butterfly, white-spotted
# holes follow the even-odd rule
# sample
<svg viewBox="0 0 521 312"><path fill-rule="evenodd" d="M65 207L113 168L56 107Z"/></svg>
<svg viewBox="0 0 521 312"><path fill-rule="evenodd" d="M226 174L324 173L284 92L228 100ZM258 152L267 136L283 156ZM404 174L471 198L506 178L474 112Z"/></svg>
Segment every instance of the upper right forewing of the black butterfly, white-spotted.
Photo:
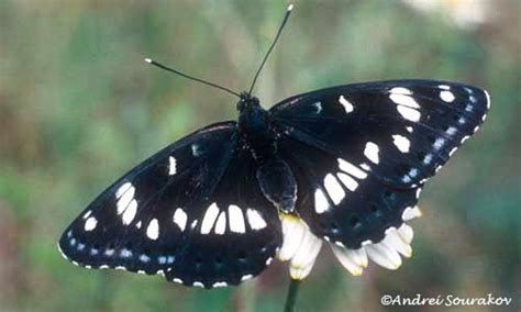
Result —
<svg viewBox="0 0 521 312"><path fill-rule="evenodd" d="M381 181L418 185L479 127L485 91L445 81L359 83L292 97L270 111L285 132L357 165Z"/></svg>

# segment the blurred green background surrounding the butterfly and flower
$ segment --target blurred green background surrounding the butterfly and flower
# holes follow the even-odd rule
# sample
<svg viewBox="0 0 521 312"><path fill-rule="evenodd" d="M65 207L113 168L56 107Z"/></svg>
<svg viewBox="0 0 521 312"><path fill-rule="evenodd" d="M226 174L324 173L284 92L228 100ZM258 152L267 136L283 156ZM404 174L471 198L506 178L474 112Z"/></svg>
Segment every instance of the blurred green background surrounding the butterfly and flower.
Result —
<svg viewBox="0 0 521 312"><path fill-rule="evenodd" d="M521 2L297 1L256 88L265 108L354 81L435 78L486 88L481 131L422 193L414 255L362 277L323 248L298 311L385 308L383 294L513 298L521 289ZM428 3L425 7L424 3ZM211 122L233 97L147 66L248 86L285 1L0 1L0 311L280 311L286 264L239 288L85 270L56 242L115 178Z"/></svg>

